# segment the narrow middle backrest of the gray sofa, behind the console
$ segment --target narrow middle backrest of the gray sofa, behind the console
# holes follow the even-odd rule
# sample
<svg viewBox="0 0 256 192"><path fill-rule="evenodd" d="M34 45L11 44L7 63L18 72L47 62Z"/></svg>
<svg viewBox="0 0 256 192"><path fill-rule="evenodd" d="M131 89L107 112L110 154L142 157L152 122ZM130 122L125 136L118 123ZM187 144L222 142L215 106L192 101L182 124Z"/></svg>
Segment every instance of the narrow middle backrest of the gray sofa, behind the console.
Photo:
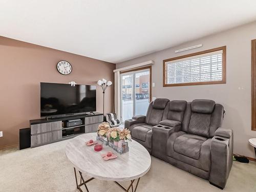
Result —
<svg viewBox="0 0 256 192"><path fill-rule="evenodd" d="M168 103L164 111L163 120L174 120L182 122L186 110L187 101L173 100Z"/></svg>

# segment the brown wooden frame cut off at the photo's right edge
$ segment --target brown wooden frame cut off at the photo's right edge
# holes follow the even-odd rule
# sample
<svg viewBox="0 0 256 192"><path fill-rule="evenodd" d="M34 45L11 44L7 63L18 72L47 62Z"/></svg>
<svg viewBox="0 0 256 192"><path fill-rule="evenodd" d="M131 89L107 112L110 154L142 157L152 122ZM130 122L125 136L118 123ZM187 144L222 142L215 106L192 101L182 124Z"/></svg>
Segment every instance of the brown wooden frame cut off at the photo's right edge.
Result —
<svg viewBox="0 0 256 192"><path fill-rule="evenodd" d="M256 39L251 40L251 130L256 131Z"/></svg>

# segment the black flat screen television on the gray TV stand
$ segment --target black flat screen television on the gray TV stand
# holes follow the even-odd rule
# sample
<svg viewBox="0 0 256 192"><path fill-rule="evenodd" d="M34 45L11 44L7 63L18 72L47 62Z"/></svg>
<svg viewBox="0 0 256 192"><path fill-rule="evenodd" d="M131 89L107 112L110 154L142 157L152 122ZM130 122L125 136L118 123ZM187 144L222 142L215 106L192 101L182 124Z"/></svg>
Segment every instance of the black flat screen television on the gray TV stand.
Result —
<svg viewBox="0 0 256 192"><path fill-rule="evenodd" d="M96 111L96 86L41 82L40 90L41 117Z"/></svg>

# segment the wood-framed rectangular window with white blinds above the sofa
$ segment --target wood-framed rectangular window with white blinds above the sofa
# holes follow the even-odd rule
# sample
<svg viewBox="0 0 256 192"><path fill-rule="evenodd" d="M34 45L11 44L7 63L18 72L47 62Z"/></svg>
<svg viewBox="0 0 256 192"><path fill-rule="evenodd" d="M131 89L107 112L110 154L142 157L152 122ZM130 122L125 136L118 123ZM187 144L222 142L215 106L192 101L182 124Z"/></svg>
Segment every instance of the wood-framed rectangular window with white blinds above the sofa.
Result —
<svg viewBox="0 0 256 192"><path fill-rule="evenodd" d="M163 61L163 86L226 83L226 47Z"/></svg>

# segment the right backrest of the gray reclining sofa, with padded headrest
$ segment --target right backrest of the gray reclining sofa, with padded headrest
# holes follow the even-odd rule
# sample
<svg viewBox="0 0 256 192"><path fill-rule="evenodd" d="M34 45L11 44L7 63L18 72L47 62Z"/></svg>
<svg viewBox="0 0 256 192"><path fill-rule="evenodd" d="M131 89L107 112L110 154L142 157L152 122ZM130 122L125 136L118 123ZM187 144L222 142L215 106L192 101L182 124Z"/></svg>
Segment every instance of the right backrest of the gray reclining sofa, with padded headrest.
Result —
<svg viewBox="0 0 256 192"><path fill-rule="evenodd" d="M215 101L197 99L188 103L182 131L203 137L213 137L215 131L222 124L224 108Z"/></svg>

